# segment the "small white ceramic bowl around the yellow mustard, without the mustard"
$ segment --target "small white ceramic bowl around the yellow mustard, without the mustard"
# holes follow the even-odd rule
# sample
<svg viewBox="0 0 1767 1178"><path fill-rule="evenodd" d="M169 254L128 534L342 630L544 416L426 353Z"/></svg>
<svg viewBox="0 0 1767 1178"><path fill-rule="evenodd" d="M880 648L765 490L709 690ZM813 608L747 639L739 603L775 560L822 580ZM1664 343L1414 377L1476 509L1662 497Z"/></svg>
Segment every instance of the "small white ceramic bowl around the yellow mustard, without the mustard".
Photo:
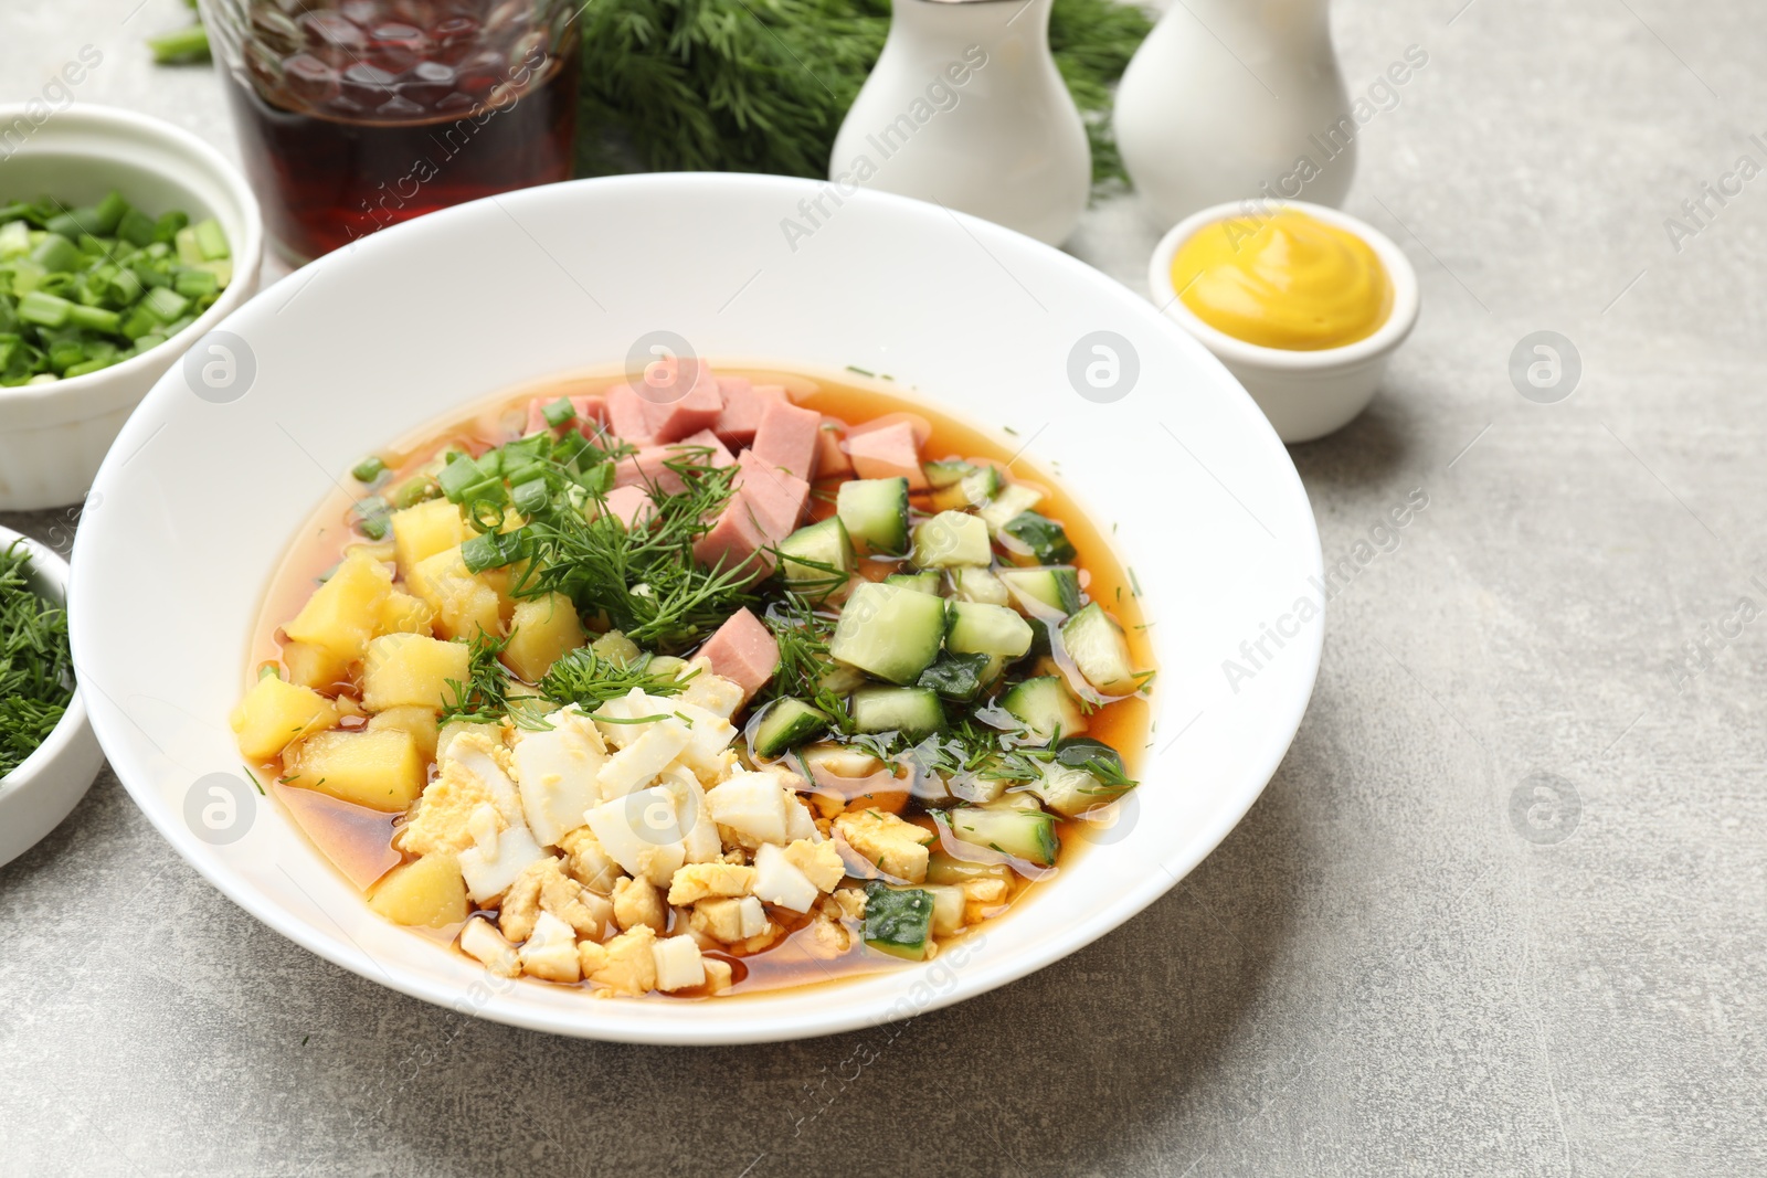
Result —
<svg viewBox="0 0 1767 1178"><path fill-rule="evenodd" d="M1274 207L1260 205L1262 210ZM1147 263L1147 288L1154 306L1200 339L1246 385L1283 442L1311 442L1348 426L1375 399L1387 360L1417 325L1417 272L1392 238L1359 217L1299 200L1283 201L1281 207L1355 233L1375 249L1392 279L1392 313L1373 336L1318 351L1263 348L1209 327L1184 306L1172 286L1172 256L1179 245L1217 221L1232 217L1255 224L1246 201L1214 205L1175 224L1154 247Z"/></svg>

